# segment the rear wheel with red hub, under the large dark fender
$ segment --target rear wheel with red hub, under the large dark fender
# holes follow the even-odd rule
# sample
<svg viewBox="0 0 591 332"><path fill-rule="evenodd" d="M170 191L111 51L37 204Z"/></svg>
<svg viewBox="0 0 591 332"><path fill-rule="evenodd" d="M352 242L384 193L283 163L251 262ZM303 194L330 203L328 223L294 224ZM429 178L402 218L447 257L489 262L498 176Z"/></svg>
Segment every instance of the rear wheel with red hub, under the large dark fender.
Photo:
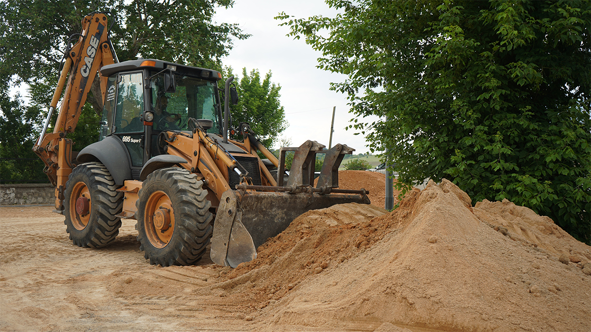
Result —
<svg viewBox="0 0 591 332"><path fill-rule="evenodd" d="M64 190L64 224L74 245L102 248L119 234L123 193L105 165L80 164L70 174Z"/></svg>

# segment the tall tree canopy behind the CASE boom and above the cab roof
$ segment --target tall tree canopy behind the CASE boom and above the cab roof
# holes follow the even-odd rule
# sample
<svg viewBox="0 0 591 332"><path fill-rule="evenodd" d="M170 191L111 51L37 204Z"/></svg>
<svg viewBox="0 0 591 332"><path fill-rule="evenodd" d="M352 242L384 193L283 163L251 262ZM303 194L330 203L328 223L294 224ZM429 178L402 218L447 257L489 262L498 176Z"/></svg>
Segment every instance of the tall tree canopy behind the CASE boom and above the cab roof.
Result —
<svg viewBox="0 0 591 332"><path fill-rule="evenodd" d="M221 67L232 38L245 39L237 24L215 23L218 7L232 0L96 0L0 2L0 73L31 86L33 102L47 108L70 36L93 11L111 12L111 40L119 61L154 57L199 67ZM102 100L89 102L100 115Z"/></svg>

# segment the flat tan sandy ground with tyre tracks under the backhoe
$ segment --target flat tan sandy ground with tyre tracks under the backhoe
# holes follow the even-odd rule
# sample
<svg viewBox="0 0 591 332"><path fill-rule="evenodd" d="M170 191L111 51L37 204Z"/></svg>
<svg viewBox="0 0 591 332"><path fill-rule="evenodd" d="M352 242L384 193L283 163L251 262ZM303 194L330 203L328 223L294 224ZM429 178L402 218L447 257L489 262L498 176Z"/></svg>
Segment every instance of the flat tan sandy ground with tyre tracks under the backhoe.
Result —
<svg viewBox="0 0 591 332"><path fill-rule="evenodd" d="M135 240L135 220L128 219L107 248L79 248L68 239L63 217L52 210L0 207L5 230L0 331L261 329L261 321L244 313L241 294L229 298L216 288L229 268L214 265L209 253L198 266L150 265ZM335 328L287 324L276 330L374 331L379 326L355 321Z"/></svg>

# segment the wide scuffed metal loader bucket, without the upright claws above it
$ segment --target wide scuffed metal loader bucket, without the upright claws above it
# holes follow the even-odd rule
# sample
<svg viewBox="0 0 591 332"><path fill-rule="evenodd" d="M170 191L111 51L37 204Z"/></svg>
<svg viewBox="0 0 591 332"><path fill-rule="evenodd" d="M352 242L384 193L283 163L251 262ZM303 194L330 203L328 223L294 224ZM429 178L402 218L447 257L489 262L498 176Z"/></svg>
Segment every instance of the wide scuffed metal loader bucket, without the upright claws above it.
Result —
<svg viewBox="0 0 591 332"><path fill-rule="evenodd" d="M213 226L212 261L232 268L252 261L256 248L285 230L296 217L343 203L369 204L369 198L363 191L320 194L228 190L220 200Z"/></svg>

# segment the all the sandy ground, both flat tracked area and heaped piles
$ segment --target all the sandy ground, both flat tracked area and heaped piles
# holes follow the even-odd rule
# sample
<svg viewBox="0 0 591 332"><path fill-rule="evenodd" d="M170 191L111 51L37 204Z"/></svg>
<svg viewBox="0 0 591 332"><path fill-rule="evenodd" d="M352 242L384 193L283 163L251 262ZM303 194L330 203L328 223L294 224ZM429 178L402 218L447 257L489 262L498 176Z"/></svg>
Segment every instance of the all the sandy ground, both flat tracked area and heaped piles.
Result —
<svg viewBox="0 0 591 332"><path fill-rule="evenodd" d="M51 210L0 207L0 331L591 330L591 248L449 181L309 211L236 269L152 266L135 220L78 248Z"/></svg>

